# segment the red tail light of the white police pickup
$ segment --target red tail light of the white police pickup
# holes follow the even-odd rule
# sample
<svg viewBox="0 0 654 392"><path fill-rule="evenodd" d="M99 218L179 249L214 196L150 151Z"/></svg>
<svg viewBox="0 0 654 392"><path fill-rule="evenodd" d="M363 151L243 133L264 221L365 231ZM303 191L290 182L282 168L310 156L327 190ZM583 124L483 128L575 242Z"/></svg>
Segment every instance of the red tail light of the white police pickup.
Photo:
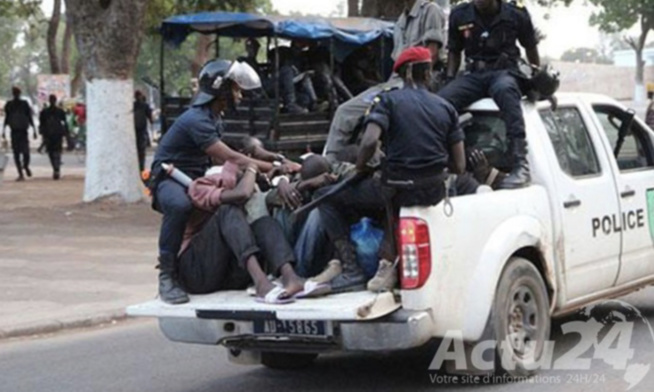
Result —
<svg viewBox="0 0 654 392"><path fill-rule="evenodd" d="M400 219L400 283L402 289L419 289L431 274L431 247L427 222Z"/></svg>

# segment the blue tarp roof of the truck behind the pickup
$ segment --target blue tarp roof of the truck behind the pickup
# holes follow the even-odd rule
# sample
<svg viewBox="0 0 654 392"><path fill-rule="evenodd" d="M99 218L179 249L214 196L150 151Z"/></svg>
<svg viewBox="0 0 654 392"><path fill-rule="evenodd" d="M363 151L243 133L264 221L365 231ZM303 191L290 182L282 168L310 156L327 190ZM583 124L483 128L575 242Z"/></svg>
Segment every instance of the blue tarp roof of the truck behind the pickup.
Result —
<svg viewBox="0 0 654 392"><path fill-rule="evenodd" d="M318 18L262 16L239 12L203 12L166 19L161 33L166 42L179 45L193 33L225 37L266 37L325 40L351 46L365 45L383 36L391 38L393 24L371 18Z"/></svg>

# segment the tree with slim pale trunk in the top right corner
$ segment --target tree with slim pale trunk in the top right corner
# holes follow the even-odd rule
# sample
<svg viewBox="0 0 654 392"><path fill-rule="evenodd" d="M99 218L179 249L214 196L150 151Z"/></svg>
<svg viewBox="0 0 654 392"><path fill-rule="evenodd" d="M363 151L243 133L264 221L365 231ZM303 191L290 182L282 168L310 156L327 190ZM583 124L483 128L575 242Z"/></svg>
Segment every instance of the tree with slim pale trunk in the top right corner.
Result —
<svg viewBox="0 0 654 392"><path fill-rule="evenodd" d="M627 37L627 43L636 52L636 89L634 100L642 102L645 100L645 62L643 61L643 49L647 42L647 36L654 30L654 0L590 0L600 7L599 12L591 16L591 25L598 26L600 30L608 33L616 33L629 30L638 25L640 32L638 37Z"/></svg>

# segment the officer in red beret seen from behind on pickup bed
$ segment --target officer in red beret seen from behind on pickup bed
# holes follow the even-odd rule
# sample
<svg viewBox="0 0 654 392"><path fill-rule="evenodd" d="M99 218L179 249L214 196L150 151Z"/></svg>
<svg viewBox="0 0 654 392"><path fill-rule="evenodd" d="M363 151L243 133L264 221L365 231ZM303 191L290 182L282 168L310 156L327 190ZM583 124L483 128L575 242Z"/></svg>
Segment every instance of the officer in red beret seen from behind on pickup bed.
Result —
<svg viewBox="0 0 654 392"><path fill-rule="evenodd" d="M355 249L349 240L349 222L359 214L386 211L392 203L397 214L402 206L429 206L445 197L446 169L455 173L465 170L463 131L454 107L428 90L432 54L423 47L402 52L393 70L404 87L381 93L366 117L365 133L357 159L357 171L368 170L367 163L383 143L385 160L381 177L375 175L345 189L319 207L330 241L343 265L343 273L332 281L334 291L354 290L365 283L357 265ZM453 163L450 165L450 163ZM389 189L391 188L391 189ZM382 197L384 195L384 197ZM352 212L355 212L354 214ZM380 281L372 291L391 288L395 276L392 228L385 233L380 250Z"/></svg>

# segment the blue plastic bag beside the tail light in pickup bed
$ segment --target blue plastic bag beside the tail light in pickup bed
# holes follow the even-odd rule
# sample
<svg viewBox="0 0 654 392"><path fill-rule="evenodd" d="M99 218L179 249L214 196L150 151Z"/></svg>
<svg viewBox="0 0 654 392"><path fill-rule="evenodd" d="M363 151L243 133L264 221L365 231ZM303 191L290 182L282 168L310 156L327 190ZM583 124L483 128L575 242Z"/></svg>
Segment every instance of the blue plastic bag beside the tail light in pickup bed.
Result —
<svg viewBox="0 0 654 392"><path fill-rule="evenodd" d="M370 218L363 218L350 228L350 240L357 249L357 261L368 279L377 272L377 253L383 237L384 231L375 227Z"/></svg>

